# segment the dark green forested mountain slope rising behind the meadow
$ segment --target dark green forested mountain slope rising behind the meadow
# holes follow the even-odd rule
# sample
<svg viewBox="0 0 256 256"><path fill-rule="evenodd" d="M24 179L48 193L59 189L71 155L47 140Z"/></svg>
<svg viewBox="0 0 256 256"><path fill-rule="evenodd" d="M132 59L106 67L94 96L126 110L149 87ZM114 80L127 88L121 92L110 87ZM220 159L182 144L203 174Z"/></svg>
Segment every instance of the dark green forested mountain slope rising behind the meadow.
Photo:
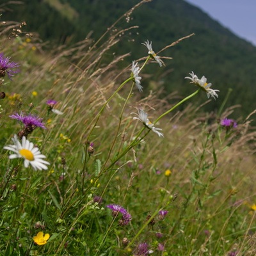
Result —
<svg viewBox="0 0 256 256"><path fill-rule="evenodd" d="M106 29L138 3L135 0L24 0L24 4L13 5L13 12L6 12L3 19L26 20L28 30L38 31L43 40L69 42L83 39L90 31L92 37L99 38ZM154 51L178 40L182 36L195 33L195 36L184 40L175 47L161 53L172 56L166 60L166 67L156 68L154 77L143 79L147 88L151 79L161 81L166 93L179 90L182 95L193 92L184 77L193 70L198 76L205 75L219 89L220 98L212 100L207 110L220 106L228 88L233 92L228 106L243 104L244 115L250 113L255 106L256 97L256 47L238 38L220 23L212 20L199 8L183 0L154 0L132 12L129 23L122 20L117 28L128 28L138 25L140 28L125 35L122 47L113 49L116 54L132 52L131 59L146 54L141 42L152 40ZM154 69L155 70L155 69ZM162 77L163 72L168 74ZM205 100L205 95L202 95ZM239 113L240 114L240 113Z"/></svg>

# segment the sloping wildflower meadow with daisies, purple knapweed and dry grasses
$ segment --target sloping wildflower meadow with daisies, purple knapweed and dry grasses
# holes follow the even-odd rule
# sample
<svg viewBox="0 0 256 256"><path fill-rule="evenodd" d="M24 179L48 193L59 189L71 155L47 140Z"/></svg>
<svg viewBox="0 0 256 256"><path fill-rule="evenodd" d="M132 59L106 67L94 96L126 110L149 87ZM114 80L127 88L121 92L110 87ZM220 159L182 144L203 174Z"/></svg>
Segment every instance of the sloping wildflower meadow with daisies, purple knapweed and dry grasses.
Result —
<svg viewBox="0 0 256 256"><path fill-rule="evenodd" d="M144 82L192 35L120 68L129 29L45 51L0 22L1 255L256 255L255 109L205 112L222 92L193 67L186 97Z"/></svg>

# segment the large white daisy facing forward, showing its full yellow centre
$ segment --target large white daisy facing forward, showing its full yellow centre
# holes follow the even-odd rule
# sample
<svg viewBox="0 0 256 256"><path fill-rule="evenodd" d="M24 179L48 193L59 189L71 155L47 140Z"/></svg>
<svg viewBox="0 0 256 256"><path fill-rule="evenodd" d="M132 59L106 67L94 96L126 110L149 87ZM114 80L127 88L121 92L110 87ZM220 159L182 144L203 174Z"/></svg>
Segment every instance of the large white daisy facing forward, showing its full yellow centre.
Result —
<svg viewBox="0 0 256 256"><path fill-rule="evenodd" d="M9 156L10 159L14 158L24 158L24 166L28 168L29 163L35 170L47 170L48 167L45 164L50 164L47 161L44 161L44 155L38 150L37 147L34 147L32 142L29 142L25 136L22 137L22 142L17 138L15 134L12 138L14 145L7 145L4 147L6 150L11 150L15 154Z"/></svg>

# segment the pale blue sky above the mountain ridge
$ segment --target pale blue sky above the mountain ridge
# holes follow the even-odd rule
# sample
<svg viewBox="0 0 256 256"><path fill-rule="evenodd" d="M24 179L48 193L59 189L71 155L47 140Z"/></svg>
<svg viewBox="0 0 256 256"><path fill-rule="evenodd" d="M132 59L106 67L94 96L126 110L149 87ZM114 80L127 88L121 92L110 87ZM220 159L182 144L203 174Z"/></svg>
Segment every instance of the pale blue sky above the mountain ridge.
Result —
<svg viewBox="0 0 256 256"><path fill-rule="evenodd" d="M256 46L256 0L185 0Z"/></svg>

